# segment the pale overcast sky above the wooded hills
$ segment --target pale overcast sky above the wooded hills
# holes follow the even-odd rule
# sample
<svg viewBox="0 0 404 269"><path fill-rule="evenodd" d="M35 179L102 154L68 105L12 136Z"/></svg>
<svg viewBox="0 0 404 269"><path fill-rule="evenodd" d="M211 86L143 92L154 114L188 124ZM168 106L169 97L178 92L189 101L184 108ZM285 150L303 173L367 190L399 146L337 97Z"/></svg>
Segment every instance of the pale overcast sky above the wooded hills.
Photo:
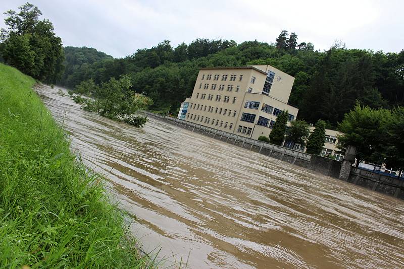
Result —
<svg viewBox="0 0 404 269"><path fill-rule="evenodd" d="M26 0L1 0L3 12ZM173 47L197 38L275 42L282 29L298 42L325 50L336 39L347 48L404 49L404 1L129 1L30 0L51 20L64 46L93 47L114 57L168 39Z"/></svg>

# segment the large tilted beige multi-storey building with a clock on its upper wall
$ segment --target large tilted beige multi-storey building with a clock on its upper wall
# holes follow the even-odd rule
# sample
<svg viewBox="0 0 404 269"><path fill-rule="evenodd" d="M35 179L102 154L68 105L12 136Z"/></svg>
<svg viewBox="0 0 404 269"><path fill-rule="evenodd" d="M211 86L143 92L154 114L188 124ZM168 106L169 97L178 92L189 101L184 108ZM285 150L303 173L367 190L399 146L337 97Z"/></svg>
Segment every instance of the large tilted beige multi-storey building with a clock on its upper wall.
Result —
<svg viewBox="0 0 404 269"><path fill-rule="evenodd" d="M203 68L182 105L188 106L184 119L252 139L268 137L282 110L289 121L297 116L298 109L287 104L293 82L270 65Z"/></svg>

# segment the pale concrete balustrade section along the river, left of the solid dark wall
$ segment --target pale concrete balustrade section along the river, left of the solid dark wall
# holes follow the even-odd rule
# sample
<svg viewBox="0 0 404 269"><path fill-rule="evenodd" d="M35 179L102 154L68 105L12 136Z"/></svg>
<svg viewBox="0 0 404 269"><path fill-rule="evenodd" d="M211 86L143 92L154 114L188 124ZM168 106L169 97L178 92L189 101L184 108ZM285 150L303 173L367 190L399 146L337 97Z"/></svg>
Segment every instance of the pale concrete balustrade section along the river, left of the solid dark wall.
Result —
<svg viewBox="0 0 404 269"><path fill-rule="evenodd" d="M204 134L208 137L212 137L215 139L219 139L221 141L240 146L245 149L249 149L251 151L255 151L264 155L268 155L283 161L287 161L289 163L294 164L297 159L305 160L310 162L312 155L303 153L300 151L288 149L285 147L280 147L274 144L265 143L263 141L245 138L241 136L237 136L237 134L218 130L215 128L207 127L201 124L189 122L179 118L173 118L168 116L163 116L155 113L151 113L148 111L141 111L142 113L161 119L163 121L169 122L174 125L178 125L184 129L189 129L192 131L196 131L198 133Z"/></svg>

